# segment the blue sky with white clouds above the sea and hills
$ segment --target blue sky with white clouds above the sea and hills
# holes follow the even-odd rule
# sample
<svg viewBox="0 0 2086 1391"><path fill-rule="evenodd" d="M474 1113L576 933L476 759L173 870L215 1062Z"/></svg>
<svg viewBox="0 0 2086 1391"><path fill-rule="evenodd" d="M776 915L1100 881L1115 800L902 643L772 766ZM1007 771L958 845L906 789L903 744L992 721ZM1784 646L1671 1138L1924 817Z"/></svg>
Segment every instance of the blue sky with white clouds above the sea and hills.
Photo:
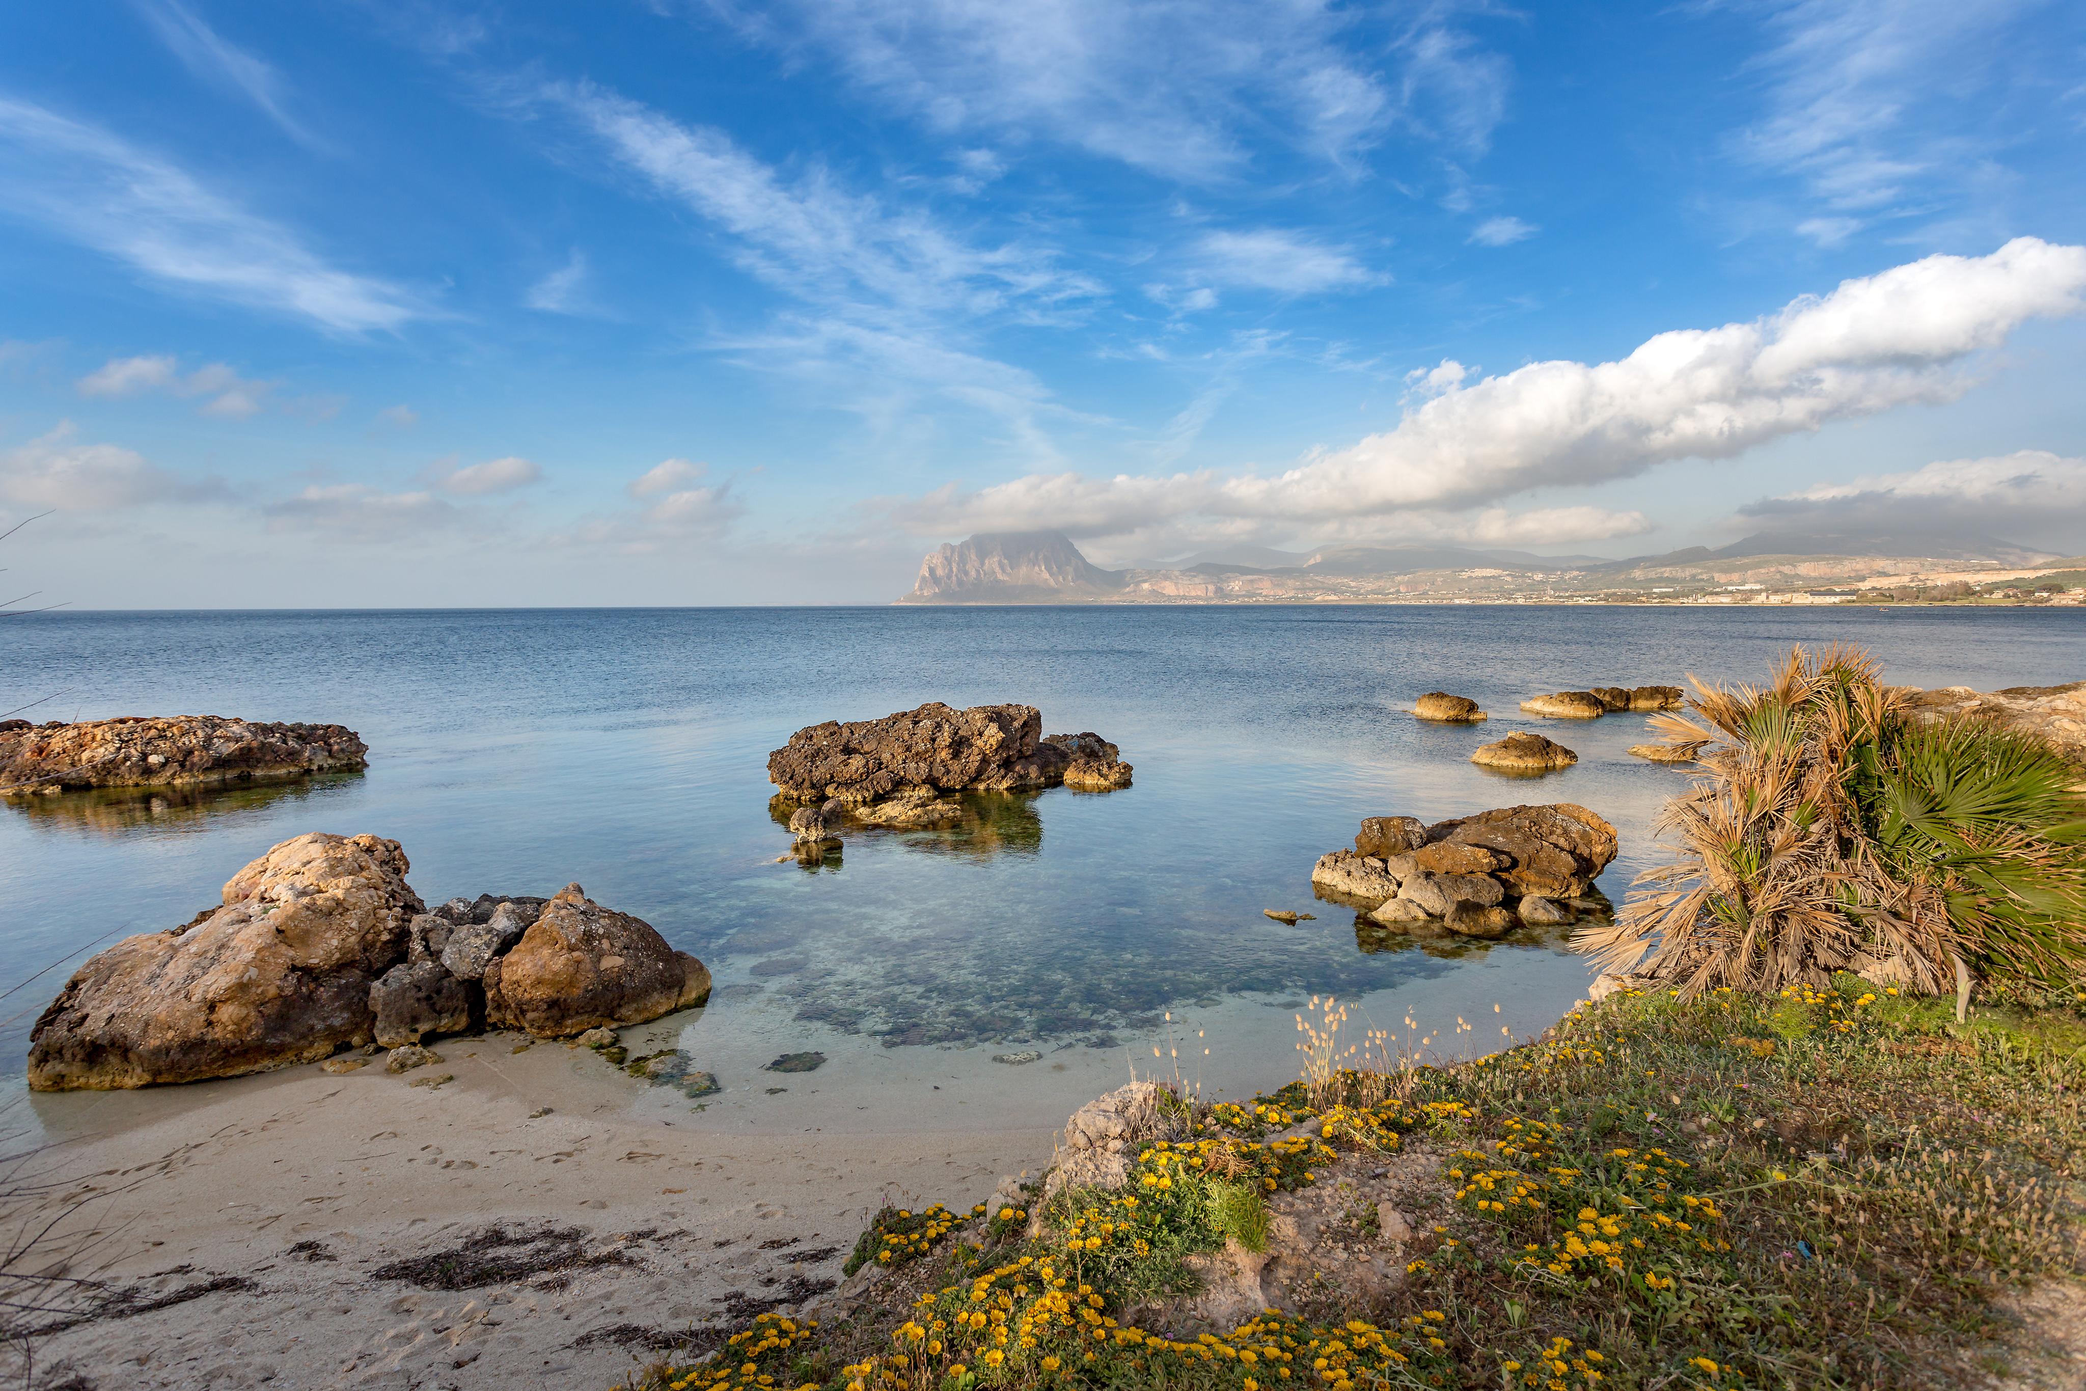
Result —
<svg viewBox="0 0 2086 1391"><path fill-rule="evenodd" d="M876 603L1014 526L2086 551L2078 6L0 25L0 528L77 605Z"/></svg>

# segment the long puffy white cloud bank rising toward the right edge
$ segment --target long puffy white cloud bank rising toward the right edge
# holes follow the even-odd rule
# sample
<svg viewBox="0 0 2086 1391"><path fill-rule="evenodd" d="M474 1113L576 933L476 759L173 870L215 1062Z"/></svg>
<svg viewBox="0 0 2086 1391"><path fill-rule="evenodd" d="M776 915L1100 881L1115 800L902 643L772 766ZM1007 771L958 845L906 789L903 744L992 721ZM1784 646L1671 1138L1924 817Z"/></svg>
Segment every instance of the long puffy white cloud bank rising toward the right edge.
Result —
<svg viewBox="0 0 2086 1391"><path fill-rule="evenodd" d="M1396 428L1275 475L1037 473L893 507L909 530L1131 534L1185 517L1352 523L1590 486L1677 459L1731 459L1827 421L1963 394L1967 359L2034 317L2086 307L2086 246L2017 238L1802 296L1750 323L1675 330L1612 363L1466 380L1444 363Z"/></svg>

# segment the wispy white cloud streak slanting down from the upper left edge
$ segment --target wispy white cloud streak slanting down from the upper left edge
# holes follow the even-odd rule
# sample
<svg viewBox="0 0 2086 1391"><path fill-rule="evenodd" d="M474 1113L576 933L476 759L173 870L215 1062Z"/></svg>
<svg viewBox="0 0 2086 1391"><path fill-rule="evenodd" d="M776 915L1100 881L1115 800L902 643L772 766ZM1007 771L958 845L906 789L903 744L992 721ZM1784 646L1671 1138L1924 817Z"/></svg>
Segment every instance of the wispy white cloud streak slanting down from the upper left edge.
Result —
<svg viewBox="0 0 2086 1391"><path fill-rule="evenodd" d="M4 211L161 286L334 334L396 330L428 313L403 288L332 265L177 165L33 102L0 98L0 181Z"/></svg>

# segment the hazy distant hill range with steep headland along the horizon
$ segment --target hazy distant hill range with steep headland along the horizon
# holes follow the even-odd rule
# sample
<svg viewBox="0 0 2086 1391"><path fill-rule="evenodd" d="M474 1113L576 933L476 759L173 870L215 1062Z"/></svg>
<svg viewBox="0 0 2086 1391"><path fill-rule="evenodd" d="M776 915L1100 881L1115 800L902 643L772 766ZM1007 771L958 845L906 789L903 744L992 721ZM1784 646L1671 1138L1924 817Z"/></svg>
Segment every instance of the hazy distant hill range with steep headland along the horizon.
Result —
<svg viewBox="0 0 2086 1391"><path fill-rule="evenodd" d="M1569 599L1615 590L1854 584L1896 574L2032 569L2055 559L1986 538L1758 532L1729 546L1625 561L1473 546L1233 546L1101 569L1062 532L980 532L928 555L914 590L899 603Z"/></svg>

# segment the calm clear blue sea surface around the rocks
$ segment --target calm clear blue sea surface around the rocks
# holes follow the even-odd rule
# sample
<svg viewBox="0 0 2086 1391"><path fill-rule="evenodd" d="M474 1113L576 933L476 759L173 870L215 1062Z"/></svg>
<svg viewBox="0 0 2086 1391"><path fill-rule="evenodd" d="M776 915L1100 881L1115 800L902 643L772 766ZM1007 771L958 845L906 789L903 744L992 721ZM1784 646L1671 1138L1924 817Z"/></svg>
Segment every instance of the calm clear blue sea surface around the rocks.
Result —
<svg viewBox="0 0 2086 1391"><path fill-rule="evenodd" d="M1683 776L1623 753L1648 736L1646 715L1544 722L1517 703L1688 672L1752 680L1790 642L1836 638L1919 686L2086 676L2082 609L10 619L0 709L65 690L33 713L338 722L371 759L367 774L288 788L0 803L0 986L17 986L0 1001L0 1051L21 1057L35 1014L96 945L188 920L242 863L307 830L401 840L430 903L578 880L649 920L715 972L711 1007L674 1028L726 1084L720 1109L745 1112L734 1124L789 1124L791 1101L759 1064L793 1049L826 1051L832 1070L811 1076L851 1089L853 1109L916 1124L953 1105L928 1076L1037 1124L1139 1057L1202 1070L1210 1087L1264 1087L1293 1076L1293 1016L1314 993L1396 1034L1410 1020L1431 1051L1481 1051L1554 1022L1583 993L1585 963L1556 941L1439 947L1358 928L1314 903L1312 861L1364 815L1575 801L1621 830L1602 880L1621 901L1656 863L1648 828ZM1400 705L1425 690L1475 697L1494 717L1421 726ZM1137 782L978 799L955 830L855 832L818 872L776 863L789 834L768 813L768 751L805 724L922 701L1039 705L1045 732L1116 740ZM1542 728L1579 765L1529 782L1466 761L1514 728ZM1266 907L1318 916L1283 926ZM1030 1051L1043 1059L993 1061ZM8 1070L19 1087L19 1061Z"/></svg>

